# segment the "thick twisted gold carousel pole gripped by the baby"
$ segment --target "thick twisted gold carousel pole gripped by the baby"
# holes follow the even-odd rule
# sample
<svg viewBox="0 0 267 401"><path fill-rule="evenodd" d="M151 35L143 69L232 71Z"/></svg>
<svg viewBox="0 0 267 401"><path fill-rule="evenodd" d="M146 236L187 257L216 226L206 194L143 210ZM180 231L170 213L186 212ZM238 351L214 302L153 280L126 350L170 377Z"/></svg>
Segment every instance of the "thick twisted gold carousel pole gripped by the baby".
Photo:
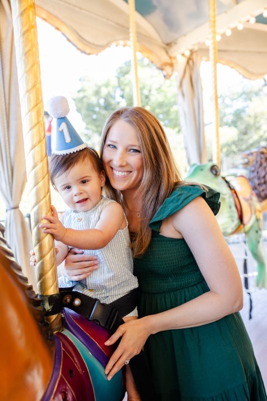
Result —
<svg viewBox="0 0 267 401"><path fill-rule="evenodd" d="M42 216L51 214L51 196L36 12L34 0L11 0L11 7L19 78L26 171L30 183L29 200L31 202L33 243L37 260L37 287L42 298L42 296L58 293L59 289L54 238L50 234L43 234L39 229ZM61 330L60 314L50 316L48 320L54 332Z"/></svg>

